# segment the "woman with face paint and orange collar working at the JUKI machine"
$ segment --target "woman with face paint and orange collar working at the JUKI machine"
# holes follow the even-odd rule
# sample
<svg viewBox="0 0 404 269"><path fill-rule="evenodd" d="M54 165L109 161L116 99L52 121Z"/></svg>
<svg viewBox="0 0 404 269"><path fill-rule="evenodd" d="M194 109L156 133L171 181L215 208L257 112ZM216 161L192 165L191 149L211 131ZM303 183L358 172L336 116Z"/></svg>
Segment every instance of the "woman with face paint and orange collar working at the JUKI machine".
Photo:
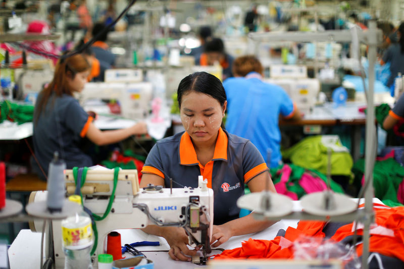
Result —
<svg viewBox="0 0 404 269"><path fill-rule="evenodd" d="M185 132L158 141L147 156L141 187L147 184L169 187L197 187L198 176L208 179L214 191L214 228L212 247L230 237L262 231L272 223L257 221L252 214L238 218L237 199L244 187L251 192L275 187L258 149L246 139L221 128L226 111L226 93L221 81L206 72L197 72L181 80L177 99ZM197 249L188 249L188 237L182 228L147 226L146 233L164 237L169 255L189 261Z"/></svg>

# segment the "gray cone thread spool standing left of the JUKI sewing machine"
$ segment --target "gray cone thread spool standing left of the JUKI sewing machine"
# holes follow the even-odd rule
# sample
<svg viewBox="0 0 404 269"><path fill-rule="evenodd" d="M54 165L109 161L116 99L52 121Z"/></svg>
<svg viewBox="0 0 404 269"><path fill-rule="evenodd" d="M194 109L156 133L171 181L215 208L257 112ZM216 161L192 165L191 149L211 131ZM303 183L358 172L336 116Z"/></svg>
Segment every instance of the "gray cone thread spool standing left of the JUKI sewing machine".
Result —
<svg viewBox="0 0 404 269"><path fill-rule="evenodd" d="M66 163L59 158L59 153L55 151L54 159L49 164L47 180L47 209L50 212L62 210L65 203L65 178L64 171Z"/></svg>

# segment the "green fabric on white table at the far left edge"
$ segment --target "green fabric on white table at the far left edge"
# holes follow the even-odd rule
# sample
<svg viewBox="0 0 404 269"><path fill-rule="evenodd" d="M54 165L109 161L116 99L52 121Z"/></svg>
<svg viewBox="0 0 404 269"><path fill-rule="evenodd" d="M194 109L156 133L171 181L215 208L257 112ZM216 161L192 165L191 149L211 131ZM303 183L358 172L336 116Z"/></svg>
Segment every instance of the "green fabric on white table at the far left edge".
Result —
<svg viewBox="0 0 404 269"><path fill-rule="evenodd" d="M34 116L33 105L3 101L0 106L0 123L7 119L18 124L32 122Z"/></svg>

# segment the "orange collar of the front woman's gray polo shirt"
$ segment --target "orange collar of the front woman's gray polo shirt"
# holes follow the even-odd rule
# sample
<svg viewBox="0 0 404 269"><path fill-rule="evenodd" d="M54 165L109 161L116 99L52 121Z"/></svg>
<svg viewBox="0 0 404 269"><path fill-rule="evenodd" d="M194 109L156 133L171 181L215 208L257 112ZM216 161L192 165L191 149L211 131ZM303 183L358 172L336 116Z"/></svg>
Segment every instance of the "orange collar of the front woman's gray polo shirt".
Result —
<svg viewBox="0 0 404 269"><path fill-rule="evenodd" d="M227 161L227 142L228 138L226 133L219 129L218 138L215 145L215 153L212 160L226 160ZM180 147L180 165L191 166L198 165L199 161L196 157L195 148L193 147L191 137L187 132L181 136Z"/></svg>

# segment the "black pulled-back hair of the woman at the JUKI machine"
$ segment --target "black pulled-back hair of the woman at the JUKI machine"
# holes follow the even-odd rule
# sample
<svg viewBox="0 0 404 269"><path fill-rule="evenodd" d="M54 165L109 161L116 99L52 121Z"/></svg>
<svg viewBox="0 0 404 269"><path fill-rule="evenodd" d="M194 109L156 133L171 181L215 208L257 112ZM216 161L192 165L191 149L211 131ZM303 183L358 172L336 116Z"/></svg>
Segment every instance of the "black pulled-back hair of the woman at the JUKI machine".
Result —
<svg viewBox="0 0 404 269"><path fill-rule="evenodd" d="M177 90L179 107L181 107L182 96L189 91L208 94L218 100L221 106L227 100L226 91L220 79L206 72L195 72L181 80Z"/></svg>

